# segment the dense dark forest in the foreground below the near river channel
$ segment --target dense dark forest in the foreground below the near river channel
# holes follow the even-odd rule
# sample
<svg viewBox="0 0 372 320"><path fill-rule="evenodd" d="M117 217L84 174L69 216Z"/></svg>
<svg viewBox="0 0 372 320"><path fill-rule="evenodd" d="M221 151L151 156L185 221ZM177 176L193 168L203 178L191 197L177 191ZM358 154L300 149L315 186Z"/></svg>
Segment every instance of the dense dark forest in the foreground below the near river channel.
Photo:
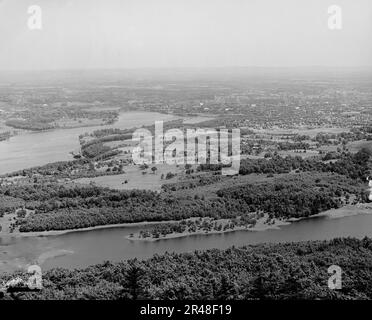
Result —
<svg viewBox="0 0 372 320"><path fill-rule="evenodd" d="M328 268L342 269L342 288L328 287ZM7 281L22 274L2 275ZM23 275L26 277L26 275ZM52 269L40 292L12 299L371 299L372 239L259 244L166 253L105 262L82 270Z"/></svg>

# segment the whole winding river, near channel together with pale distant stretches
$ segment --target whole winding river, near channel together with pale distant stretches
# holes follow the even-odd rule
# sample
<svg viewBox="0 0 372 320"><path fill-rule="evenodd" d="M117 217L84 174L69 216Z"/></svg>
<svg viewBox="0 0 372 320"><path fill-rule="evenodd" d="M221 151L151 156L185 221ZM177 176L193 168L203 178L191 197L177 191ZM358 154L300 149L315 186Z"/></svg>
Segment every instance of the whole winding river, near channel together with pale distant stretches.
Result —
<svg viewBox="0 0 372 320"><path fill-rule="evenodd" d="M157 113L125 113L114 127L130 128L170 120L172 116ZM0 142L0 173L19 170L48 162L71 159L69 152L78 148L78 135L102 127L52 130L22 134ZM345 209L339 209L344 210ZM280 229L236 231L225 234L193 235L156 242L126 239L142 227L106 228L76 231L57 236L1 236L0 272L39 263L46 270L52 267L86 267L105 260L148 258L155 253L187 252L199 249L227 248L261 242L325 240L334 237L372 237L372 209L352 209L358 215L343 218L328 216L301 220ZM348 214L348 212L342 212Z"/></svg>

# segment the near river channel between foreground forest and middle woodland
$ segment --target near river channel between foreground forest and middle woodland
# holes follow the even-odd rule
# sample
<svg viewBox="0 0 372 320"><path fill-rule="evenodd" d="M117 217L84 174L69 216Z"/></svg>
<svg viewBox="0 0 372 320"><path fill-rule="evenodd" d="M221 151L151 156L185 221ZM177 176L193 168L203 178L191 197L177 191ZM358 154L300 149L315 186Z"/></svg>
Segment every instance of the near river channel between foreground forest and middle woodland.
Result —
<svg viewBox="0 0 372 320"><path fill-rule="evenodd" d="M367 212L367 211L364 211ZM354 212L358 213L358 212ZM335 237L372 237L372 214L362 211L342 218L321 216L266 231L234 231L191 235L155 242L126 239L143 227L76 231L57 236L0 238L0 271L13 271L38 262L42 269L81 268L105 260L144 259L155 253L242 246L262 242L326 240Z"/></svg>

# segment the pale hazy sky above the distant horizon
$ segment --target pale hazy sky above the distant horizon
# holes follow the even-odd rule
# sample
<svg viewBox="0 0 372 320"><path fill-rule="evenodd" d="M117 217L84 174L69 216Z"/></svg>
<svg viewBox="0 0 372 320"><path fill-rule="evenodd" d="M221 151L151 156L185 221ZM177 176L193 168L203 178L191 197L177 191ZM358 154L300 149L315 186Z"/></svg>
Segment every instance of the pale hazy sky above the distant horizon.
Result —
<svg viewBox="0 0 372 320"><path fill-rule="evenodd" d="M372 65L371 0L0 0L0 70L315 65Z"/></svg>

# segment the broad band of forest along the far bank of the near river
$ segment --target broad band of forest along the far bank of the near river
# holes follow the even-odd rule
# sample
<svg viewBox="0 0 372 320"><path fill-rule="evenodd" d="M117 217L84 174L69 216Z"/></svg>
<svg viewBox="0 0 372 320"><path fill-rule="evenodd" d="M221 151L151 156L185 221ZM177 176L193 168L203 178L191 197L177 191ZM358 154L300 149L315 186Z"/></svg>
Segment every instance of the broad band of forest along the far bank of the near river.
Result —
<svg viewBox="0 0 372 320"><path fill-rule="evenodd" d="M283 165L292 163L296 166L300 164L305 172L292 170L267 181L220 187L213 199L184 197L172 192L174 186L165 188L167 192L158 193L38 181L2 186L0 196L14 199L15 202L22 200L26 209L33 210L26 217L17 218L15 224L21 232L191 217L230 219L254 212L268 213L270 218L302 218L347 203L368 201L365 177L370 170L369 159L370 154L364 150L354 155L347 154L334 163L316 162L315 167L309 168L306 160L297 157L272 159L276 161L275 166L270 166L274 171L282 172ZM270 160L263 161L266 162L265 166L270 163ZM319 164L320 168L317 167ZM257 172L262 166L250 164L249 168L253 169L248 169L246 165L241 170ZM219 178L212 175L199 180L197 185L218 181ZM9 208L1 210L6 212Z"/></svg>

